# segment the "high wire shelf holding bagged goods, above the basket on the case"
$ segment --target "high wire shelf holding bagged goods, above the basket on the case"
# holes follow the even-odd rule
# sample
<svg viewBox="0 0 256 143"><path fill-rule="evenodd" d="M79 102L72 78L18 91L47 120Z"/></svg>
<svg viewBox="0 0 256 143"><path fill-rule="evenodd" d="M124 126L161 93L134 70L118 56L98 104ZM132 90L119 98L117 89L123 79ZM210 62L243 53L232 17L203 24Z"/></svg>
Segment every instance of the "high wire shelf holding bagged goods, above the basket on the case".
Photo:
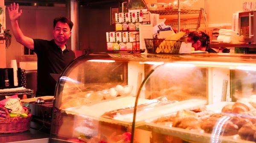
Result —
<svg viewBox="0 0 256 143"><path fill-rule="evenodd" d="M175 15L178 14L178 9L151 10L151 13L160 15ZM180 9L180 14L199 14L201 10L195 9Z"/></svg>

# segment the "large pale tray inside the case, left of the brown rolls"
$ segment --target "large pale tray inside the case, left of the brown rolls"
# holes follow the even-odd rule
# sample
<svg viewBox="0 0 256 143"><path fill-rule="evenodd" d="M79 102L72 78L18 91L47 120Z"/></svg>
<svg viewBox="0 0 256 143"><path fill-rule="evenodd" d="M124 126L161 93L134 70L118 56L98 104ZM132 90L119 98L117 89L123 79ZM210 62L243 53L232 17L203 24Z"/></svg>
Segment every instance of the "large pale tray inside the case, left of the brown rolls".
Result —
<svg viewBox="0 0 256 143"><path fill-rule="evenodd" d="M139 99L138 105L143 103L148 103L148 99ZM133 122L133 112L129 114L119 114L113 118L102 116L106 112L111 112L118 109L125 109L128 106L134 106L135 97L122 97L116 100L109 100L107 102L96 103L92 106L76 106L68 109L64 109L67 114L79 115L82 117L91 118L93 120L98 120L107 123L119 124L122 126L131 126ZM164 106L158 106L156 108L148 110L143 110L138 112L136 116L136 126L142 126L145 124L145 120L160 117L165 114L170 114L177 112L179 110L193 108L195 106L201 106L207 104L206 100L192 99L184 100L177 103L171 103ZM154 113L154 114L152 114Z"/></svg>

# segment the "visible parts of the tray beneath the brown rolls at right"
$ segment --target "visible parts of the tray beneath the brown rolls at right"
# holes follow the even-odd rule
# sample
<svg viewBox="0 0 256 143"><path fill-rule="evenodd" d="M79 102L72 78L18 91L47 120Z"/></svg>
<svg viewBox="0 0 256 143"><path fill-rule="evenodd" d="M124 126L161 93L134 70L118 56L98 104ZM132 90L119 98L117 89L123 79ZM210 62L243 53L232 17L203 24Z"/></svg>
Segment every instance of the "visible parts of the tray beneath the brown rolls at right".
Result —
<svg viewBox="0 0 256 143"><path fill-rule="evenodd" d="M221 102L218 104L211 104L207 105L207 109L211 110L215 113L220 113L221 109L226 106L227 104L233 104L233 102ZM175 114L175 113L172 113ZM172 114L165 115L170 116ZM175 137L180 137L183 140L192 143L254 143L248 140L242 140L238 134L233 136L221 136L218 134L208 134L204 133L204 130L188 130L188 129L181 129L166 125L160 125L157 123L153 123L154 120L157 120L160 117L152 118L149 120L145 120L145 125L139 126L139 129L148 130L151 132L157 132L160 134L171 135ZM216 132L215 132L216 133Z"/></svg>

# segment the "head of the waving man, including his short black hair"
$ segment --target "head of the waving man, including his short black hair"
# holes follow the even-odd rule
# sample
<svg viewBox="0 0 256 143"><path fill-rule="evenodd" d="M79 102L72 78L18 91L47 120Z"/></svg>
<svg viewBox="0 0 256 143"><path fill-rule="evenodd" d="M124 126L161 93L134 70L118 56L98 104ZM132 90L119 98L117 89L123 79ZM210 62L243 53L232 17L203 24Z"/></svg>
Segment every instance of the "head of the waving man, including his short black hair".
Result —
<svg viewBox="0 0 256 143"><path fill-rule="evenodd" d="M58 43L66 43L71 36L73 22L67 17L57 17L53 20L53 38Z"/></svg>

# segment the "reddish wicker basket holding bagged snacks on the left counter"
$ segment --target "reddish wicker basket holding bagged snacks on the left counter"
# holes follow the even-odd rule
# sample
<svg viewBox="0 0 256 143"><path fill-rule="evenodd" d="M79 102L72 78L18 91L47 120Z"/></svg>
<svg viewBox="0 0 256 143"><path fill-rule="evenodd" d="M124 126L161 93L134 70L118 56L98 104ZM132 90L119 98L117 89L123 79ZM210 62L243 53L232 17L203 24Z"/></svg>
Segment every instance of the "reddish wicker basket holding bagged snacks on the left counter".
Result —
<svg viewBox="0 0 256 143"><path fill-rule="evenodd" d="M0 119L0 133L24 132L30 128L32 114L28 117L8 117Z"/></svg>

